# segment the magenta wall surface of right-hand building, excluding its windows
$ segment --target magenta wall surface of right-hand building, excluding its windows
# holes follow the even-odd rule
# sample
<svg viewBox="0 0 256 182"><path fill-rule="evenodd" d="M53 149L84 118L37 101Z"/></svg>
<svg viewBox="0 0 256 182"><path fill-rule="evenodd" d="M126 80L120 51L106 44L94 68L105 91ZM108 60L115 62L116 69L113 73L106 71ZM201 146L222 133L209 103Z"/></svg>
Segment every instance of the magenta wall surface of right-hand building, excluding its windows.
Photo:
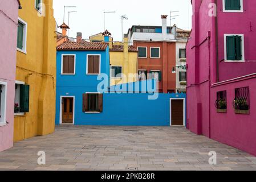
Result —
<svg viewBox="0 0 256 182"><path fill-rule="evenodd" d="M209 4L214 2L216 0L192 0L192 39L186 46L188 129L256 155L256 142L253 139L256 136L256 78L212 86L217 82L216 18L209 16L208 13ZM220 81L256 73L256 47L253 44L256 41L256 1L246 0L243 1L243 5L245 14L222 13L222 0L217 0ZM249 29L250 21L255 25L252 27L253 32ZM222 61L224 34L245 35L245 63ZM235 114L230 104L234 100L234 89L245 86L250 86L250 114ZM221 90L227 90L229 100L225 114L217 113L215 107L217 92Z"/></svg>

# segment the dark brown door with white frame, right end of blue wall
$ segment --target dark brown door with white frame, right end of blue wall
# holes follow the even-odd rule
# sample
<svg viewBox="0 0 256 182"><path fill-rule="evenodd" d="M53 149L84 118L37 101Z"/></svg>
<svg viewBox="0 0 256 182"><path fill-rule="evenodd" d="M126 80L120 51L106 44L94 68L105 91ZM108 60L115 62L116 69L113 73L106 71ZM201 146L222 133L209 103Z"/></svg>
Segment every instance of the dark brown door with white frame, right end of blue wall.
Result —
<svg viewBox="0 0 256 182"><path fill-rule="evenodd" d="M170 99L170 126L185 126L185 98Z"/></svg>

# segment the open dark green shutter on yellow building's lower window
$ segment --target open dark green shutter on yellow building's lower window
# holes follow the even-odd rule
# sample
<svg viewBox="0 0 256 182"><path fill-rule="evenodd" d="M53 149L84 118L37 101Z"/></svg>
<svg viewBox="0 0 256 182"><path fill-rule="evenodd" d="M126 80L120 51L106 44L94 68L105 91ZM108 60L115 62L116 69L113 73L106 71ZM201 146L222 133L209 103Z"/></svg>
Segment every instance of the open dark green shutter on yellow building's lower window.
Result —
<svg viewBox="0 0 256 182"><path fill-rule="evenodd" d="M29 85L21 85L20 111L21 113L29 112Z"/></svg>

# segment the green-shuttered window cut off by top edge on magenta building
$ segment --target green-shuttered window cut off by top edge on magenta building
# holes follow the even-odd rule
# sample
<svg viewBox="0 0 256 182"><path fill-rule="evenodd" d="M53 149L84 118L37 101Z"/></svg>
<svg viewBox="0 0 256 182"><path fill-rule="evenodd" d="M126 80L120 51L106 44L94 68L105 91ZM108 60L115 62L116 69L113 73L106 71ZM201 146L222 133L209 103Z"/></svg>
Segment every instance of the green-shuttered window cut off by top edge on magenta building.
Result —
<svg viewBox="0 0 256 182"><path fill-rule="evenodd" d="M243 0L223 0L224 12L243 12Z"/></svg>

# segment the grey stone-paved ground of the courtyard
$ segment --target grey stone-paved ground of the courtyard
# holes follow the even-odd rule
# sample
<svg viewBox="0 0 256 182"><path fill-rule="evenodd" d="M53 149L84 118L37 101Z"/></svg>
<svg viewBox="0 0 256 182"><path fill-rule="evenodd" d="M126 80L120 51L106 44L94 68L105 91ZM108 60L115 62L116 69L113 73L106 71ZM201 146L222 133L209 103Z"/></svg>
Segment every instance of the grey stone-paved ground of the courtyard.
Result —
<svg viewBox="0 0 256 182"><path fill-rule="evenodd" d="M37 164L38 151L46 165ZM217 165L208 163L217 152ZM0 152L0 170L254 170L256 158L184 127L57 126Z"/></svg>

